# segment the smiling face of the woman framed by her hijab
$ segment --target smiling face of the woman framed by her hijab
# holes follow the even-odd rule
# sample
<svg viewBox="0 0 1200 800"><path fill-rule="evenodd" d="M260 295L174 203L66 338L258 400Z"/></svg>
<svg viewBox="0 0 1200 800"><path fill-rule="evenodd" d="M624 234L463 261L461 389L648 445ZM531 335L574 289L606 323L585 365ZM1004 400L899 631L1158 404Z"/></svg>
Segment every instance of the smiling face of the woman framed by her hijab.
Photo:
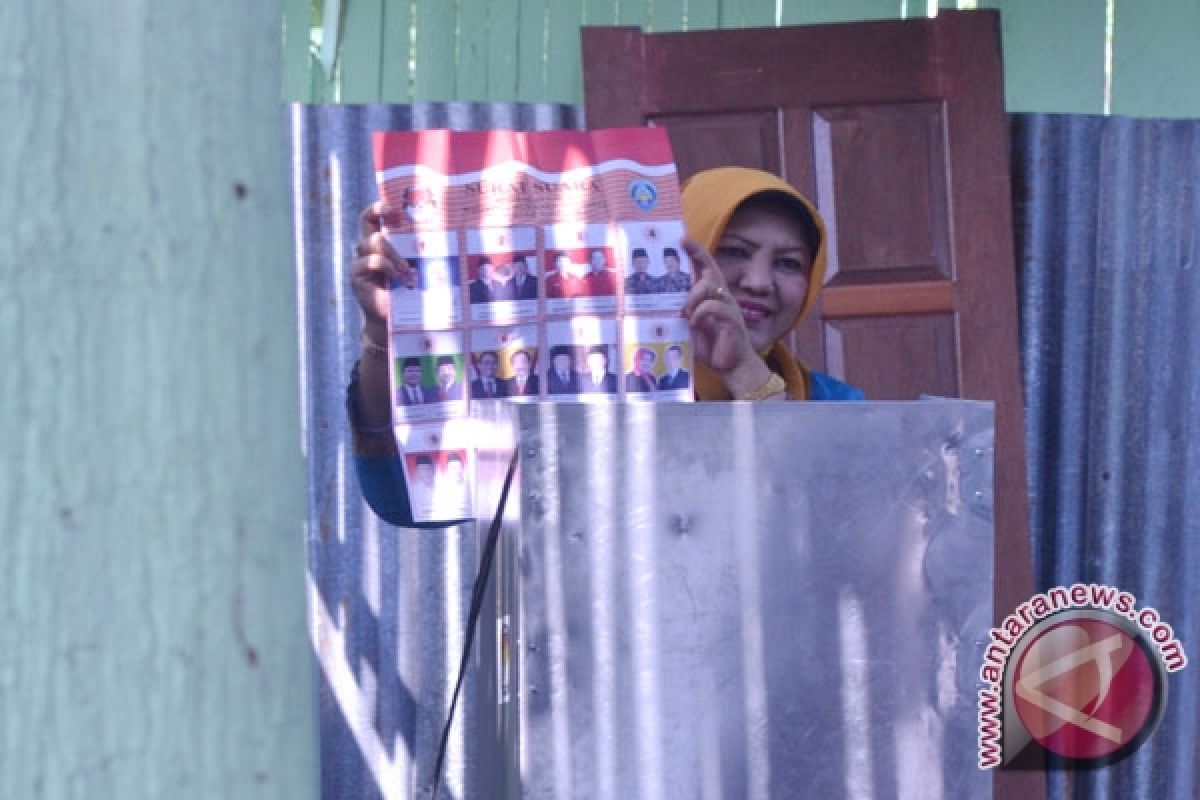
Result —
<svg viewBox="0 0 1200 800"><path fill-rule="evenodd" d="M794 213L773 198L750 199L713 253L758 351L791 330L809 290L812 254Z"/></svg>

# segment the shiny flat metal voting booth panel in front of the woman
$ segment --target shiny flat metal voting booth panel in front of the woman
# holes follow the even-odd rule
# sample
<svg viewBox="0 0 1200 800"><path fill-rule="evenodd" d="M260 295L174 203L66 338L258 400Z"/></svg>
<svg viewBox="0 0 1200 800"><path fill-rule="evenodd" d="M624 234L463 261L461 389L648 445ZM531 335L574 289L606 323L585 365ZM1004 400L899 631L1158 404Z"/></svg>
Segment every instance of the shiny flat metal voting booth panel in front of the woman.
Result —
<svg viewBox="0 0 1200 800"><path fill-rule="evenodd" d="M488 798L988 798L992 408L504 404L467 783ZM510 453L479 457L480 517ZM482 524L482 523L481 523Z"/></svg>

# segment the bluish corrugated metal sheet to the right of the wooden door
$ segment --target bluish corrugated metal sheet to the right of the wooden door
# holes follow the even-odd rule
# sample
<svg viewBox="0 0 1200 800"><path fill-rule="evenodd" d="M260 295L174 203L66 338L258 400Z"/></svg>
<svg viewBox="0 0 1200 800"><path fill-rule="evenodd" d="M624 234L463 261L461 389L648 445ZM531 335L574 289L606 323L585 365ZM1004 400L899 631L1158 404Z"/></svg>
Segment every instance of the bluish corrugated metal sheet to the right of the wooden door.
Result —
<svg viewBox="0 0 1200 800"><path fill-rule="evenodd" d="M1200 122L1013 118L1034 570L1157 608L1193 661L1128 760L1052 795L1194 798Z"/></svg>

